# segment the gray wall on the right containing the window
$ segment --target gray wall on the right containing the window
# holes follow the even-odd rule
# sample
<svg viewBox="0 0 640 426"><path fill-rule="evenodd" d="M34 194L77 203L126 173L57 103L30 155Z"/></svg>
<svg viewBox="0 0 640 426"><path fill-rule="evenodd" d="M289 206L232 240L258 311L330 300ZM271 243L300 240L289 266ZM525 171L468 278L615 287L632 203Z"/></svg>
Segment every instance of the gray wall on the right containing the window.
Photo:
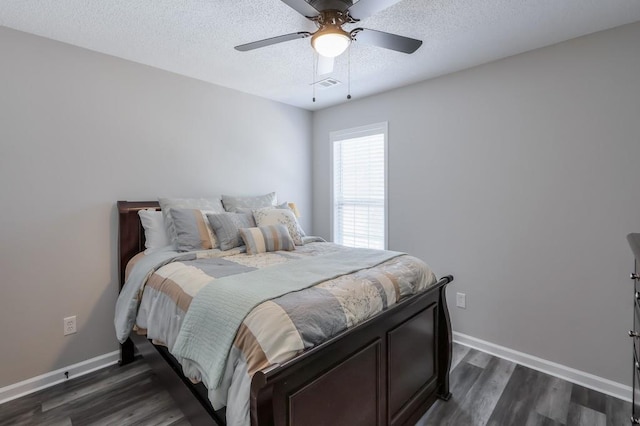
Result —
<svg viewBox="0 0 640 426"><path fill-rule="evenodd" d="M454 330L630 385L638 40L640 23L317 112L315 233L329 132L388 121L389 247L455 276Z"/></svg>

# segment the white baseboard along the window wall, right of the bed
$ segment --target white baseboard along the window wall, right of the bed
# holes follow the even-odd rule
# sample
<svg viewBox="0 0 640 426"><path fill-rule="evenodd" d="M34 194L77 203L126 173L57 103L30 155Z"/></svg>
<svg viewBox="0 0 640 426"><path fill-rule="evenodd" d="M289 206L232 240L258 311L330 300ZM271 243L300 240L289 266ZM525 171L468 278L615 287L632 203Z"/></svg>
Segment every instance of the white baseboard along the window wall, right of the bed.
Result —
<svg viewBox="0 0 640 426"><path fill-rule="evenodd" d="M595 376L584 371L576 370L566 365L557 364L546 359L538 358L524 352L514 351L504 346L496 345L491 342L476 339L466 334L453 332L453 341L473 349L478 349L499 358L524 365L525 367L541 371L551 376L558 377L571 383L576 383L589 389L602 392L607 395L614 396L624 401L631 402L633 389L631 386L623 385L603 377Z"/></svg>

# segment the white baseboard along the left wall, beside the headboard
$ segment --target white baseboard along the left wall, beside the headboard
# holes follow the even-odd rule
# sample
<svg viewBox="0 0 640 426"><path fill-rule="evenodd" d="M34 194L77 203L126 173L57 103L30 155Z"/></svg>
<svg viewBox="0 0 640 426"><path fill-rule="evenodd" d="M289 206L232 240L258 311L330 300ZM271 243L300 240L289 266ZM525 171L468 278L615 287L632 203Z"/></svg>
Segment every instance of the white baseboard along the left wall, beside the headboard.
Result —
<svg viewBox="0 0 640 426"><path fill-rule="evenodd" d="M0 388L0 404L116 364L119 359L120 351L109 352L68 367L23 380L13 385L5 386ZM68 378L65 373L69 373Z"/></svg>

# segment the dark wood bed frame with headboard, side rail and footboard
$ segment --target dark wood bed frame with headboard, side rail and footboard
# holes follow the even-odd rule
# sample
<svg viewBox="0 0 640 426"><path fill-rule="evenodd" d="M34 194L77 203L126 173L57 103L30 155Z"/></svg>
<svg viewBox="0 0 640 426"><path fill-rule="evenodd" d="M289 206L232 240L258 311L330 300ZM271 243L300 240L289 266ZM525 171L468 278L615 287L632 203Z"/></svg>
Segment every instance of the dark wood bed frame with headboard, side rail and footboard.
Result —
<svg viewBox="0 0 640 426"><path fill-rule="evenodd" d="M118 201L120 288L127 262L144 250L138 210L155 201ZM251 381L252 426L415 425L437 398L449 399L451 323L441 278L364 323ZM121 345L121 364L134 352L147 360L193 425L225 424L205 387L182 374L164 347L135 333ZM213 422L212 422L213 420Z"/></svg>

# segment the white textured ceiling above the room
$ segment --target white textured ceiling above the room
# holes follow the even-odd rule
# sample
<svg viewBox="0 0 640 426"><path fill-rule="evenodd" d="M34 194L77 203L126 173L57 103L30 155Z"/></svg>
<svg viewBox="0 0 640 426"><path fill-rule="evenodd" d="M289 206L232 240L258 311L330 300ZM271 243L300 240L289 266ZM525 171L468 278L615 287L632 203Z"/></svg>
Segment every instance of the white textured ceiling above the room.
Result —
<svg viewBox="0 0 640 426"><path fill-rule="evenodd" d="M636 21L640 0L402 0L357 26L421 39L422 47L406 55L353 43L351 94L361 98ZM316 89L313 103L309 39L233 48L315 30L279 0L2 0L0 25L310 110L348 102L347 54L332 74L316 77L343 84Z"/></svg>

